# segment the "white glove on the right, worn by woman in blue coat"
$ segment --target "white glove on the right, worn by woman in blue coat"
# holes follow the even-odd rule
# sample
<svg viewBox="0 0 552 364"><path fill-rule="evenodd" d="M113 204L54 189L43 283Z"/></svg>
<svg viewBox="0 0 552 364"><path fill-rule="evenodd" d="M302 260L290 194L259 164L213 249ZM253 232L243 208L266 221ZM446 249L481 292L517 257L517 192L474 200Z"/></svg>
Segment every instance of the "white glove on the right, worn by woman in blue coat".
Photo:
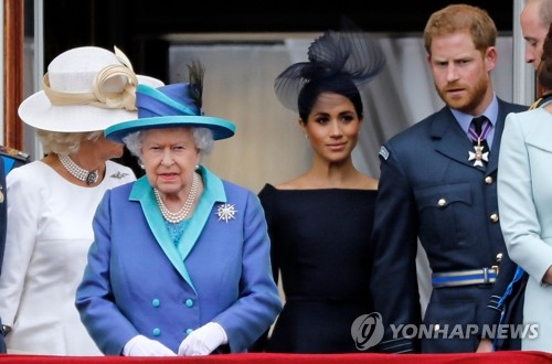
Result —
<svg viewBox="0 0 552 364"><path fill-rule="evenodd" d="M216 322L208 322L182 340L178 354L180 356L209 355L227 342L229 338L224 329Z"/></svg>

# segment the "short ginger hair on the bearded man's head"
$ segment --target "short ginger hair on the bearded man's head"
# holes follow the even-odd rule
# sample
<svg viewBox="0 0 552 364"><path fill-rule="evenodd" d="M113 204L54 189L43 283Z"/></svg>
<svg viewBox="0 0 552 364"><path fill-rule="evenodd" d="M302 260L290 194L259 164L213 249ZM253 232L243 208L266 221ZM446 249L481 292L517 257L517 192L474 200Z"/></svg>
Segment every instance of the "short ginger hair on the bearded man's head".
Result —
<svg viewBox="0 0 552 364"><path fill-rule="evenodd" d="M424 29L424 46L431 54L434 36L469 31L476 50L487 51L495 46L497 26L487 11L468 4L450 4L434 12Z"/></svg>

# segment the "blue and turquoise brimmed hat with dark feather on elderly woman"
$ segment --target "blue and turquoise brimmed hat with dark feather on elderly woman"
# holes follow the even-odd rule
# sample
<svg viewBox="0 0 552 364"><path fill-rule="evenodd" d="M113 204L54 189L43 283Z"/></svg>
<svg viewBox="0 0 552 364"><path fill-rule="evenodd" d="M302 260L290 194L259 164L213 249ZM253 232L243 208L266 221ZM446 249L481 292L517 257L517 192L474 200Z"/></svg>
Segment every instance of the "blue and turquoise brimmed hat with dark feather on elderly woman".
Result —
<svg viewBox="0 0 552 364"><path fill-rule="evenodd" d="M136 87L138 119L116 124L105 130L109 140L121 142L135 131L159 128L208 128L213 139L226 139L234 135L232 121L203 114L203 68L199 63L189 66L190 82L158 88L139 84Z"/></svg>

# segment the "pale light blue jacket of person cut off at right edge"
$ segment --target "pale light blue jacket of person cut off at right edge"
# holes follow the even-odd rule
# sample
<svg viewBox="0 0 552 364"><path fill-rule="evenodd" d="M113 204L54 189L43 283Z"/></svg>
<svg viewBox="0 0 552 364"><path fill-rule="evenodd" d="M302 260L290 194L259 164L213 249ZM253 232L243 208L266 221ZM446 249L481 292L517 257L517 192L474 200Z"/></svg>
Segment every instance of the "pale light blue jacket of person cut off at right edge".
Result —
<svg viewBox="0 0 552 364"><path fill-rule="evenodd" d="M509 114L499 157L498 207L510 258L529 274L523 323L538 335L521 350L552 352L552 290L542 281L552 265L552 115L543 107Z"/></svg>

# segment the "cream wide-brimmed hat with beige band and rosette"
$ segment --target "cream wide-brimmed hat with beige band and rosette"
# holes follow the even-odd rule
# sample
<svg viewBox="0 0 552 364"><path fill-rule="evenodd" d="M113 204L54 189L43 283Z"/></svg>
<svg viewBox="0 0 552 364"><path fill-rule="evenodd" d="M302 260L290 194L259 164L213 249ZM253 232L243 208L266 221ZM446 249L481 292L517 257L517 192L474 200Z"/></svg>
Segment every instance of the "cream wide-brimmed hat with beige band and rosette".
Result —
<svg viewBox="0 0 552 364"><path fill-rule="evenodd" d="M123 52L82 46L57 55L47 66L43 90L28 97L18 114L26 125L60 132L105 130L136 119L136 86L162 86L136 75Z"/></svg>

